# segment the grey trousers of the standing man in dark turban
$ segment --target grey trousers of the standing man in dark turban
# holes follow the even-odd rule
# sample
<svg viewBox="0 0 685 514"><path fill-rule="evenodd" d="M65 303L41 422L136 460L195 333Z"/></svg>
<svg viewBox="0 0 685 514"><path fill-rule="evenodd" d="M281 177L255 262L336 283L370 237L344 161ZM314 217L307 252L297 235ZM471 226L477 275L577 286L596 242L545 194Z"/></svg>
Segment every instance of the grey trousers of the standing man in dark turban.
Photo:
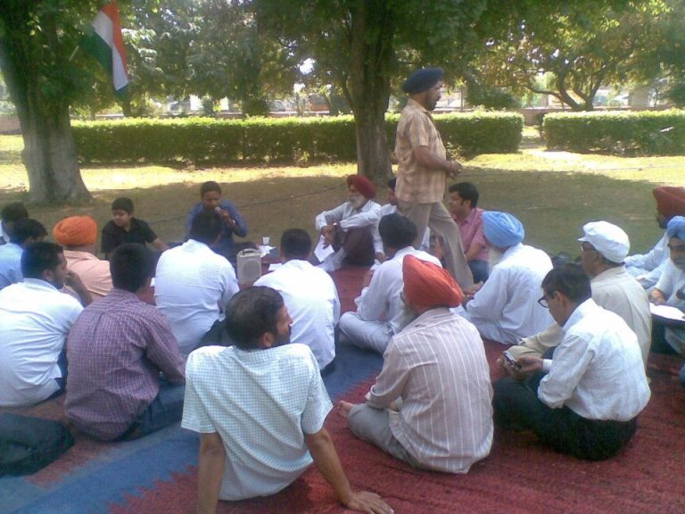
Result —
<svg viewBox="0 0 685 514"><path fill-rule="evenodd" d="M424 240L426 228L430 228L432 234L442 237L445 243L443 250L447 270L457 280L462 290L471 290L474 286L474 278L464 255L464 247L461 245L461 234L457 223L452 220L445 206L441 202L410 203L398 200L397 210L417 226L418 235L414 242L416 248Z"/></svg>

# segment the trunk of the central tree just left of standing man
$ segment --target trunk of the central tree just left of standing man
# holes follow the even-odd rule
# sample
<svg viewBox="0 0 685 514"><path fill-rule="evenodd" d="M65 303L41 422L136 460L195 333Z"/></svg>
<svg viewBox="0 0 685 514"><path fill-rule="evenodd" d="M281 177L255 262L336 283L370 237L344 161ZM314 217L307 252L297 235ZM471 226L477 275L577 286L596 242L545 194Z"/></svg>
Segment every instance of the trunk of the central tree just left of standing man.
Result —
<svg viewBox="0 0 685 514"><path fill-rule="evenodd" d="M384 184L392 175L385 132L395 30L392 12L385 0L357 0L351 15L349 91L357 126L357 171Z"/></svg>

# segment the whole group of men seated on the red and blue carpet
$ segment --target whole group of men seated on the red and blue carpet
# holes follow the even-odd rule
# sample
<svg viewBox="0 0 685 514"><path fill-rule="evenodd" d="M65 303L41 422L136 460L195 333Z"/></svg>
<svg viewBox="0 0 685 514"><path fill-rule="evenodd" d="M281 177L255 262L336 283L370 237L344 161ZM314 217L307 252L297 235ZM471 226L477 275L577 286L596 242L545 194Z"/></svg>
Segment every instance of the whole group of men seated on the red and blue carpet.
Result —
<svg viewBox="0 0 685 514"><path fill-rule="evenodd" d="M215 182L202 185L186 242L171 248L130 200L116 200L102 232L108 261L95 255L92 218L60 221L55 244L21 204L6 206L0 407L66 391L74 427L105 441L182 419L201 434L199 511L276 493L312 461L351 510L392 511L351 488L324 427L336 339L384 356L366 402L340 402L340 414L414 468L466 473L489 454L494 424L588 460L630 441L650 396L643 285L654 303L685 308L685 189L655 190L670 259L652 286L626 270L639 258L614 224L584 225L580 265L553 268L524 245L515 216L477 208L475 186L455 184L448 209L477 278L463 291L442 267L445 242L392 209L392 181L384 207L367 178L346 184L348 201L316 217L317 251L306 230L286 230L283 265L243 291L231 261L247 227ZM356 311L341 316L329 272L344 264L373 266ZM685 352L685 329L664 334ZM494 385L482 338L508 346L507 377Z"/></svg>

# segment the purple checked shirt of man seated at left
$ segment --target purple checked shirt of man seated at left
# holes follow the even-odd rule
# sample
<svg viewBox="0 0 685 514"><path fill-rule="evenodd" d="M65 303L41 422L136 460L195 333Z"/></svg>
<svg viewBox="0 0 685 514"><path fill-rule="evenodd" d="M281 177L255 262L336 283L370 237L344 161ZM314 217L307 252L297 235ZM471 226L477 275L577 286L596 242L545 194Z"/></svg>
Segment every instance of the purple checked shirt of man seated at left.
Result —
<svg viewBox="0 0 685 514"><path fill-rule="evenodd" d="M160 371L170 382L186 380L167 319L122 289L81 313L67 341L67 360L67 416L78 430L103 440L126 432L153 402Z"/></svg>

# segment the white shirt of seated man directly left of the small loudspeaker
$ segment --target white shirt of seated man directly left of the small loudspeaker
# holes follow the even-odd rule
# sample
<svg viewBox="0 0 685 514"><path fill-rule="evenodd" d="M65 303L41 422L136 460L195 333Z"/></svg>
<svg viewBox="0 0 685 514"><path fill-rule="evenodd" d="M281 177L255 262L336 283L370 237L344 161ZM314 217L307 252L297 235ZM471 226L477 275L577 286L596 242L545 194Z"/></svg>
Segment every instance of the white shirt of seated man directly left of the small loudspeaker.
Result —
<svg viewBox="0 0 685 514"><path fill-rule="evenodd" d="M157 263L154 300L186 355L223 319L228 300L237 292L231 263L194 239L162 253Z"/></svg>

